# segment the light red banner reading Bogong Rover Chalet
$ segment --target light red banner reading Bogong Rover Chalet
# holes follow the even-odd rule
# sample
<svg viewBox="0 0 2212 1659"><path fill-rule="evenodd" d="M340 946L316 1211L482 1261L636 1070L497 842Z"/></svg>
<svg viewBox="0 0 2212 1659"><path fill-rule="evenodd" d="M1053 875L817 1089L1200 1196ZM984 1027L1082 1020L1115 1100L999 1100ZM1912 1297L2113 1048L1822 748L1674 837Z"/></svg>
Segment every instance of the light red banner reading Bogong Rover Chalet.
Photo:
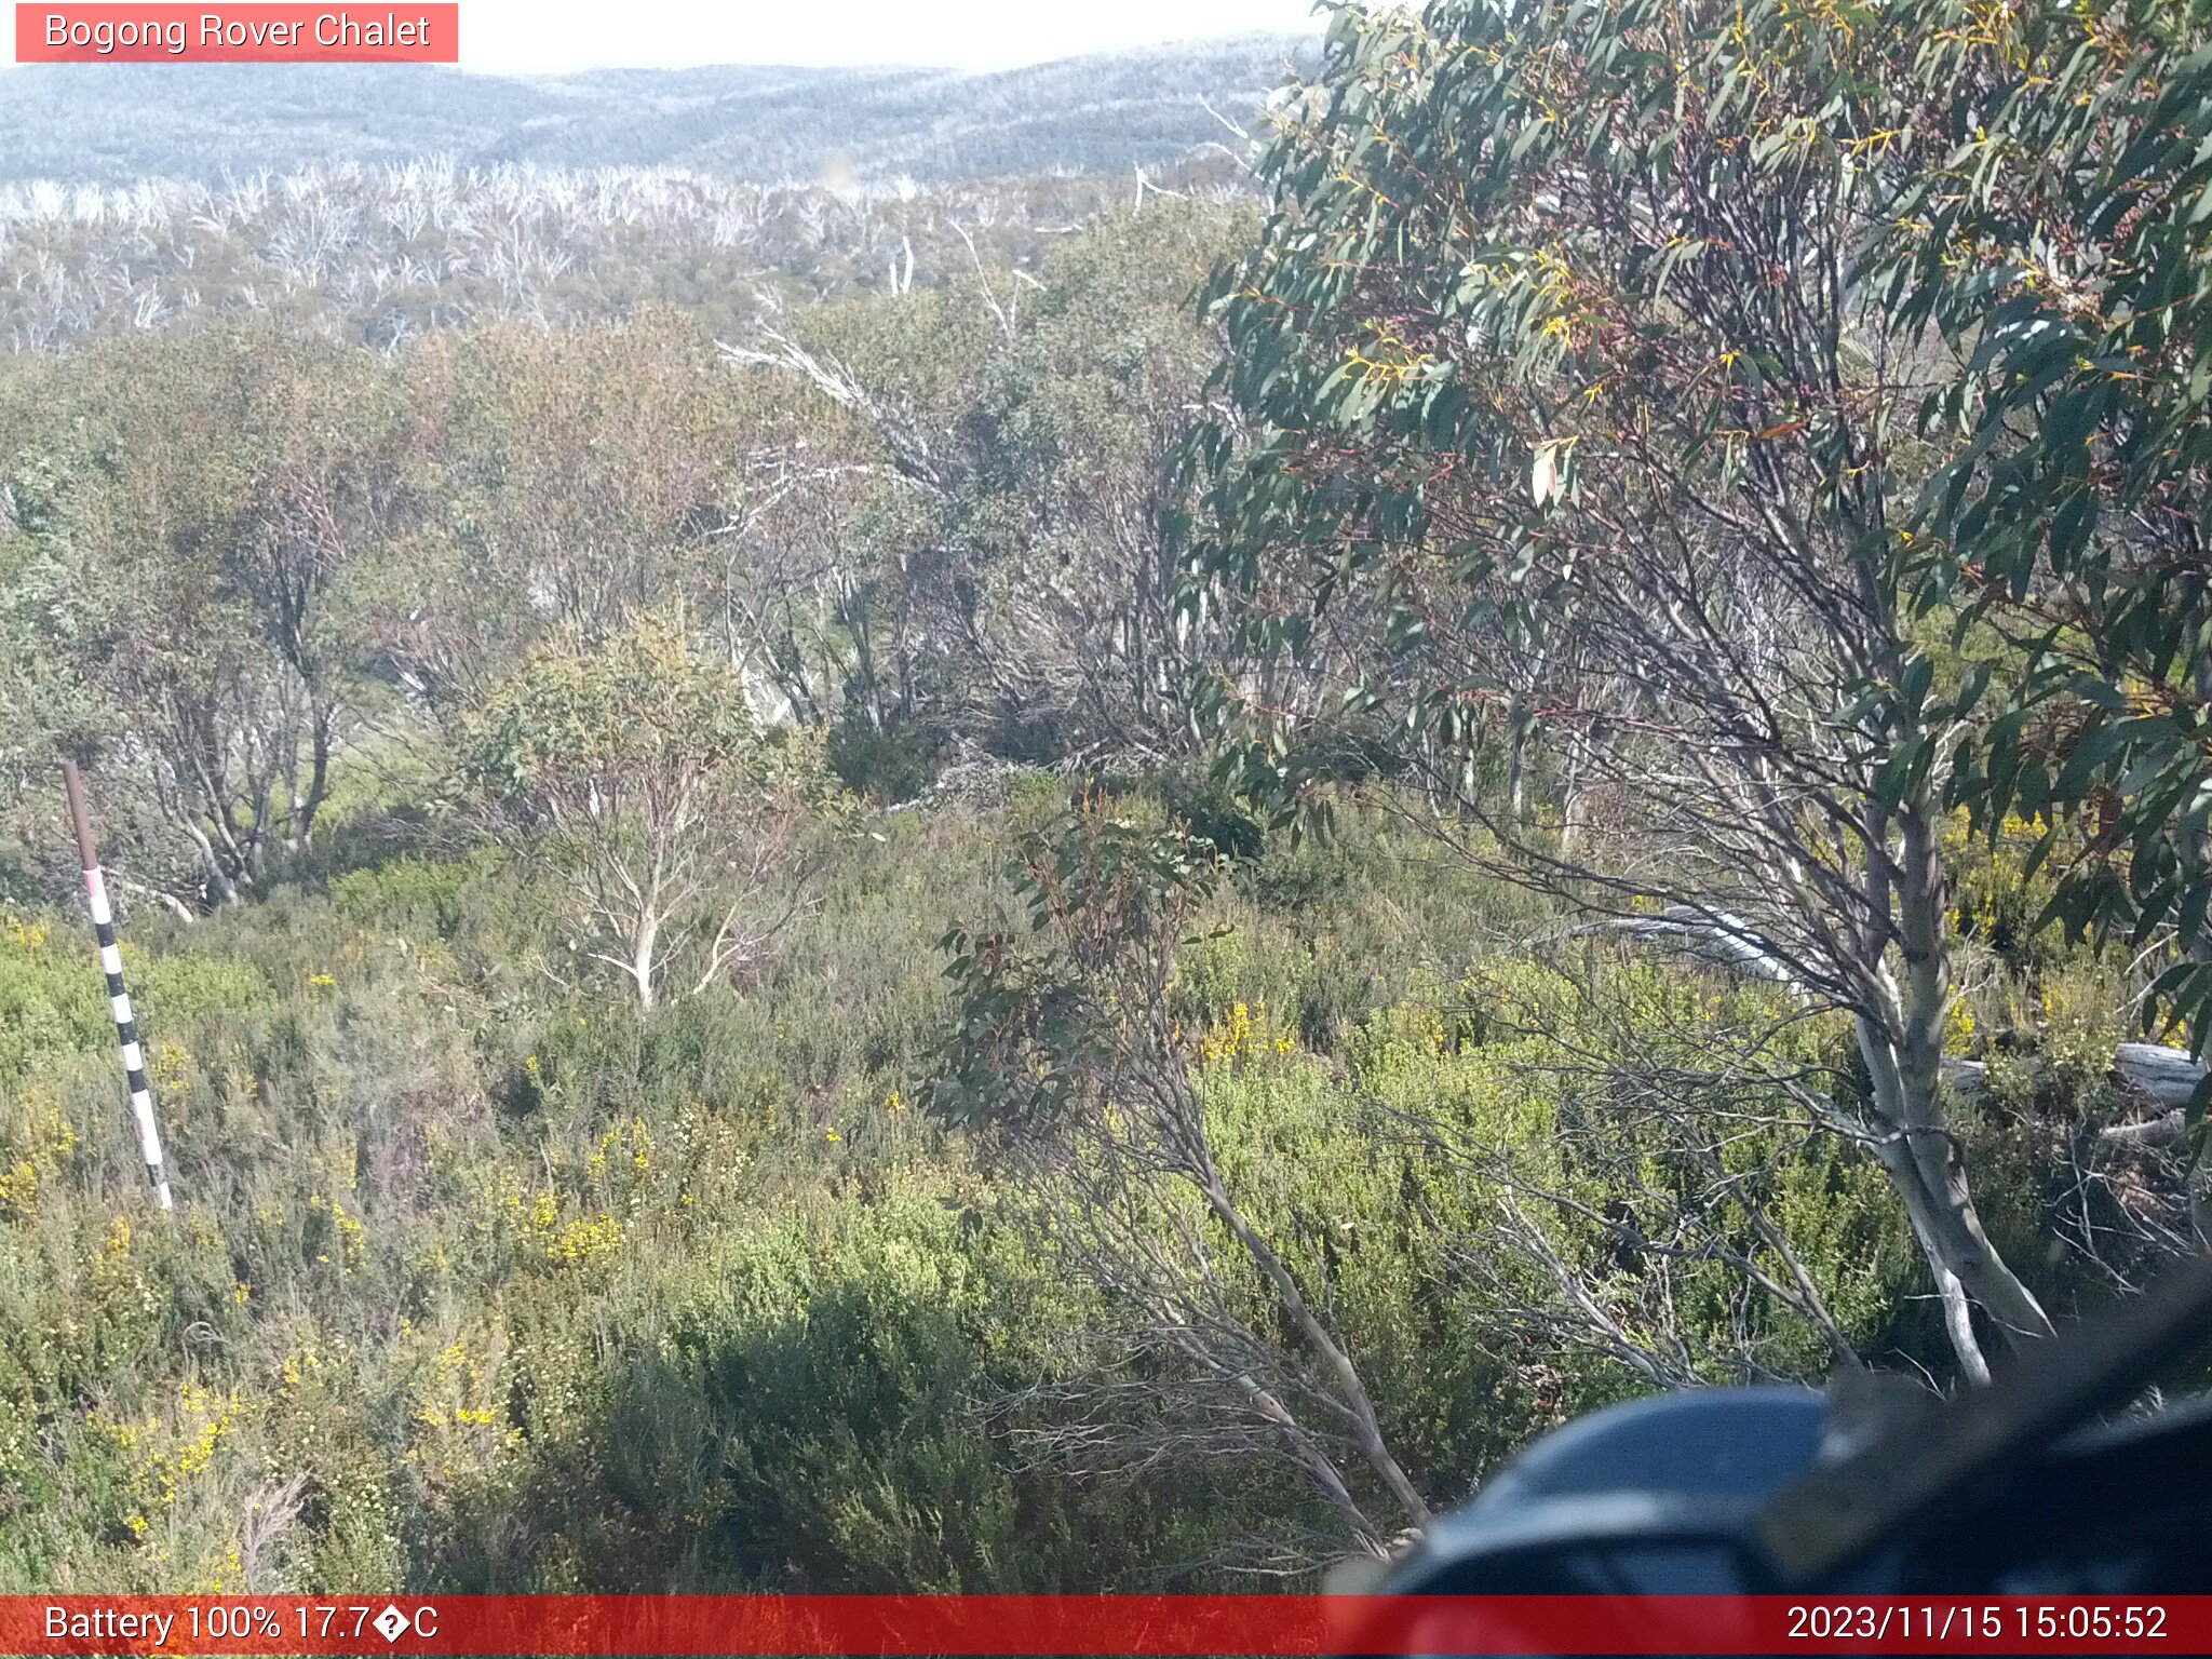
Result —
<svg viewBox="0 0 2212 1659"><path fill-rule="evenodd" d="M458 64L458 4L18 4L18 64Z"/></svg>

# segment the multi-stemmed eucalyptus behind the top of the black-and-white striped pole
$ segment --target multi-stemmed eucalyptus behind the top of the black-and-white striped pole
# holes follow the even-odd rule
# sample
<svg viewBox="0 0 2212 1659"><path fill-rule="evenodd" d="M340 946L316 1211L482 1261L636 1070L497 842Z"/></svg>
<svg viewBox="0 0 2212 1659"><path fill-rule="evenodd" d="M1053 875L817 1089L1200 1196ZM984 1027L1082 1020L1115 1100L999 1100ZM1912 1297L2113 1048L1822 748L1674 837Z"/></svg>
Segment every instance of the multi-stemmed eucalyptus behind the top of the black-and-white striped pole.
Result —
<svg viewBox="0 0 2212 1659"><path fill-rule="evenodd" d="M303 849L365 690L349 602L400 513L378 365L274 325L106 343L46 376L9 469L7 604L53 745L230 902Z"/></svg>

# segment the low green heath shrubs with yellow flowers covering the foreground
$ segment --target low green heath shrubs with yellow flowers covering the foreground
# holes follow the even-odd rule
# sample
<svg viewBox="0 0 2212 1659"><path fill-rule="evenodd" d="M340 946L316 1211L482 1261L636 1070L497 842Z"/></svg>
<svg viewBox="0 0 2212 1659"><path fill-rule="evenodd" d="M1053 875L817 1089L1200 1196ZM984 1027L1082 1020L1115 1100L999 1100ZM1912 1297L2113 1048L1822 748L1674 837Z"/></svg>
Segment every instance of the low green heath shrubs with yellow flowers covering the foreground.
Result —
<svg viewBox="0 0 2212 1659"><path fill-rule="evenodd" d="M1110 847L1046 860L1029 902L1044 883L1084 911L1102 887L1164 902L1192 845L1161 841L1144 801L1119 816ZM1254 1469L1088 1482L1006 1438L1064 1427L1055 1400L1117 1329L1040 1250L1024 1190L914 1104L973 1013L914 964L936 962L947 914L978 940L1026 936L993 874L1018 832L956 810L878 823L883 841L836 843L748 998L646 1020L531 989L509 929L551 894L529 865L409 854L327 900L150 929L128 967L177 1239L144 1208L88 947L18 916L4 982L55 1015L4 1026L0 1073L7 1582L51 1586L69 1562L77 1582L226 1590L1155 1588L1219 1582L1177 1564L1239 1540L1303 1535L1310 1500ZM1761 1022L1759 998L1648 962L1593 1004L1573 975L1491 962L1526 900L1440 869L1389 818L1352 814L1294 856L1334 876L1290 907L1232 885L1186 922L1139 911L1177 945L1223 1170L1329 1298L1425 1491L1451 1500L1644 1387L1526 1321L1546 1292L1498 1230L1509 1190L1617 1305L1672 1307L1703 1376L1741 1376L1725 1263L1668 1265L1661 1301L1593 1221L1626 1192L1655 1241L1756 1250L1741 1206L1701 1197L1659 1126L1593 1115L1535 1029L1613 1044L1601 1009L1621 1002L1641 1046L1672 1029L1690 1062ZM1349 989L1318 991L1332 973ZM1316 998L1334 1057L1303 1035ZM1973 1133L2022 1199L2000 1243L2044 1237L2064 1137ZM1785 1124L1730 1157L1869 1356L1938 1360L1863 1159ZM1783 1314L1752 1352L1823 1367ZM1018 1396L1013 1418L978 1416ZM294 1475L301 1515L248 1575L239 1517Z"/></svg>

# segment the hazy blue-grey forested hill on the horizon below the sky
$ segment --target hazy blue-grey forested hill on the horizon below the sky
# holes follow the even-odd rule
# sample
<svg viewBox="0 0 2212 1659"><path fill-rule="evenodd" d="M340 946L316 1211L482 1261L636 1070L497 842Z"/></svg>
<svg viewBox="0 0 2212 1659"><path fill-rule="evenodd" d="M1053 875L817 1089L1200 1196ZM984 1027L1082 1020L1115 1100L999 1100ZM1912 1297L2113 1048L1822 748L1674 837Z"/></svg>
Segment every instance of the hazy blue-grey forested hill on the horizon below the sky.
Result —
<svg viewBox="0 0 2212 1659"><path fill-rule="evenodd" d="M1318 42L1254 35L1002 73L686 69L562 77L416 64L24 64L0 71L0 181L215 181L451 155L697 168L770 184L1126 173L1234 142Z"/></svg>

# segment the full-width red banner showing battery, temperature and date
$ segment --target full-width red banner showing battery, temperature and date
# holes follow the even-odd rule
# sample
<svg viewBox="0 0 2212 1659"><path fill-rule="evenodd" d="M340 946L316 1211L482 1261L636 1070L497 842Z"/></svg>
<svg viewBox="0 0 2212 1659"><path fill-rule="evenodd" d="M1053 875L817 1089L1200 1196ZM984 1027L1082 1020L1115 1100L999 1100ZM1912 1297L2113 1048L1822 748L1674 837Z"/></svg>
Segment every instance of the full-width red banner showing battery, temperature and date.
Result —
<svg viewBox="0 0 2212 1659"><path fill-rule="evenodd" d="M0 1597L11 1655L2212 1652L2212 1597Z"/></svg>

